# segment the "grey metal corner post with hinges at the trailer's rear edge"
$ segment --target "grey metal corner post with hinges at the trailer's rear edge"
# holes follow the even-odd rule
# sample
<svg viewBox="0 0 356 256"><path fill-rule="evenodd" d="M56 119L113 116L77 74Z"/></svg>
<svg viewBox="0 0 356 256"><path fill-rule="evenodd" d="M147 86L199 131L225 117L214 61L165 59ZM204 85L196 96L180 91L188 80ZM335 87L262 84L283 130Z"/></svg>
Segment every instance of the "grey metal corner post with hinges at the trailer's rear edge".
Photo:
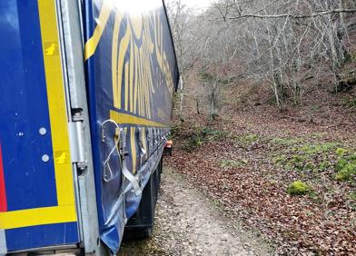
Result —
<svg viewBox="0 0 356 256"><path fill-rule="evenodd" d="M84 40L80 1L57 0L58 23L64 48L64 74L67 75L67 106L70 110L69 127L71 150L74 153L74 179L77 191L78 219L82 237L81 247L89 255L104 255L99 238L99 223L94 190L94 165L84 78ZM70 100L69 100L70 99Z"/></svg>

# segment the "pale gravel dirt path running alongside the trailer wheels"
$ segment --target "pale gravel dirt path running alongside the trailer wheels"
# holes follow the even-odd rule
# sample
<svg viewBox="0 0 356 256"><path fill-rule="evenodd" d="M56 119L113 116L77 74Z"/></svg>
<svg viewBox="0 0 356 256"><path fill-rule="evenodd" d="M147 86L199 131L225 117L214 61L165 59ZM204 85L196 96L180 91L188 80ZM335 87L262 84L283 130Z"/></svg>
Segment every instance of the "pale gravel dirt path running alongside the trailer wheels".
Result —
<svg viewBox="0 0 356 256"><path fill-rule="evenodd" d="M270 255L181 176L164 170L153 237L124 242L118 255Z"/></svg>

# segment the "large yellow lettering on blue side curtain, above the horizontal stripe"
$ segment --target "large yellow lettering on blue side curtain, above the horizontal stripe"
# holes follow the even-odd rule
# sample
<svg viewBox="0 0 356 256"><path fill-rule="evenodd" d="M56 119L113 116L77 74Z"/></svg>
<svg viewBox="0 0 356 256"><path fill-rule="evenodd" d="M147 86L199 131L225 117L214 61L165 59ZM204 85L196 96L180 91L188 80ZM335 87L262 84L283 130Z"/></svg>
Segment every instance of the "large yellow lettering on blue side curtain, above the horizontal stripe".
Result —
<svg viewBox="0 0 356 256"><path fill-rule="evenodd" d="M119 40L119 29L124 22L124 36ZM151 34L150 26L154 27L154 34ZM129 17L116 11L112 47L114 107L151 119L151 103L155 93L153 75L163 75L169 94L173 94L173 77L163 51L163 24L160 15ZM128 52L130 57L127 59L125 55ZM157 60L158 68L153 65L153 57ZM121 100L123 92L124 105ZM171 101L168 97L164 100ZM170 105L170 102L165 105Z"/></svg>

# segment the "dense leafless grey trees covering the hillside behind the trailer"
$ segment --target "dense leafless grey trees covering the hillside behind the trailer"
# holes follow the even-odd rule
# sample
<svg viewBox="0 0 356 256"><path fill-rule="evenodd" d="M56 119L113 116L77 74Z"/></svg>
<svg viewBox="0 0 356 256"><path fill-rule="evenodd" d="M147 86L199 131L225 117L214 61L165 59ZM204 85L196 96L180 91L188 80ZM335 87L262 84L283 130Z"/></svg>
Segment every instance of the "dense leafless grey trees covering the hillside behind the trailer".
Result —
<svg viewBox="0 0 356 256"><path fill-rule="evenodd" d="M218 0L199 14L172 0L169 10L182 120L184 84L195 72L212 119L221 88L233 79L266 84L280 109L301 103L308 81L331 78L334 91L342 89L356 28L354 0ZM202 98L195 97L198 113Z"/></svg>

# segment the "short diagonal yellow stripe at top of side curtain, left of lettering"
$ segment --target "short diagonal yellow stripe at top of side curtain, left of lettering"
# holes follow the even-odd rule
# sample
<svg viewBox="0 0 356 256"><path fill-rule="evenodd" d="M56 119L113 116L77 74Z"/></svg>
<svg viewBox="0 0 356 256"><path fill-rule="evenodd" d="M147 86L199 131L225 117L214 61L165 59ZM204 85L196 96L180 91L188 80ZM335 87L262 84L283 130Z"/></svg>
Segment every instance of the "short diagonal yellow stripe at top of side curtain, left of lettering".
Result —
<svg viewBox="0 0 356 256"><path fill-rule="evenodd" d="M96 47L99 44L100 38L102 37L104 28L107 24L113 7L113 0L104 1L102 10L100 11L100 15L98 18L98 25L96 25L92 37L90 37L89 40L85 43L85 60L89 59L95 53Z"/></svg>

